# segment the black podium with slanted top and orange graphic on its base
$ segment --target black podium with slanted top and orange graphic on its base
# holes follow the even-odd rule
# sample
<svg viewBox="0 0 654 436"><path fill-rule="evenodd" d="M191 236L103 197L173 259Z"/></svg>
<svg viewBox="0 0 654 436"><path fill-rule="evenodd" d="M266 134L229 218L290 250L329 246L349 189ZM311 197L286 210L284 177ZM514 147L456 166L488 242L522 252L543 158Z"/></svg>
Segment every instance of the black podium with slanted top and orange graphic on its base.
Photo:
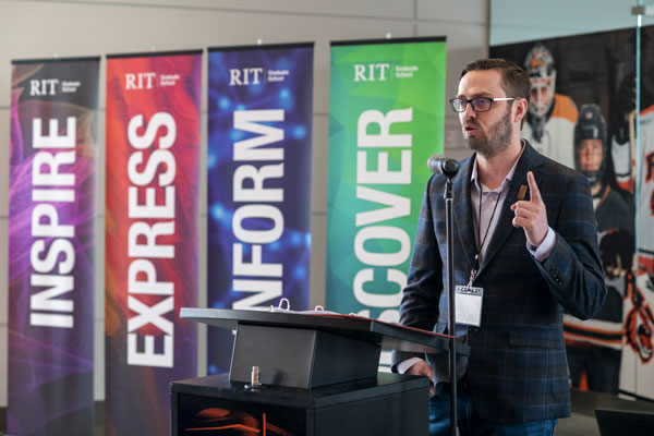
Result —
<svg viewBox="0 0 654 436"><path fill-rule="evenodd" d="M449 337L376 319L182 308L235 330L229 374L171 383L171 435L427 434L428 380L377 373L382 349L447 353ZM468 346L458 346L469 354ZM250 386L252 367L259 387Z"/></svg>

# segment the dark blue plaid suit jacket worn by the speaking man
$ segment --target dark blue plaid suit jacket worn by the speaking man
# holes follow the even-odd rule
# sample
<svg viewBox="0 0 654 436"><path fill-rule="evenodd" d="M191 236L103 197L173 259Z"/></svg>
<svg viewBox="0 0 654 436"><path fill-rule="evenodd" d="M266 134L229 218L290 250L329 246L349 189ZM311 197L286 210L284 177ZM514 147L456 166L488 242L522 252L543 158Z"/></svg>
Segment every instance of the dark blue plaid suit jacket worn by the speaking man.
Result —
<svg viewBox="0 0 654 436"><path fill-rule="evenodd" d="M453 179L455 284L468 283L475 255L470 198L474 158L463 160ZM510 206L520 186L529 186L530 170L556 232L555 247L543 263L529 253L524 230L511 223ZM427 183L400 304L400 324L437 332L448 326L445 183L443 175ZM482 325L457 326L457 336L468 335L471 347L469 358L458 358L457 374L468 366L472 400L485 420L523 423L569 416L562 313L593 317L606 295L589 183L526 143L506 195L473 282L484 288ZM396 352L393 364L413 355ZM447 355L428 361L436 382L448 382Z"/></svg>

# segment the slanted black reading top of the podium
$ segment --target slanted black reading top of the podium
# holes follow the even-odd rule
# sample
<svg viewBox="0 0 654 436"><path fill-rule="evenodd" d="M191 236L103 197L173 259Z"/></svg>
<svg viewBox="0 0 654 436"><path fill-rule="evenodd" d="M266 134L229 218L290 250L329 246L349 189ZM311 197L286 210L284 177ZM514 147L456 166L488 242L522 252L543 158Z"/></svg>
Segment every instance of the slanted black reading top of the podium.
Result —
<svg viewBox="0 0 654 436"><path fill-rule="evenodd" d="M449 350L449 336L356 315L182 307L180 317L231 330L239 324L323 330L380 343L386 350L419 353ZM457 340L457 354L470 354L470 347L460 339Z"/></svg>

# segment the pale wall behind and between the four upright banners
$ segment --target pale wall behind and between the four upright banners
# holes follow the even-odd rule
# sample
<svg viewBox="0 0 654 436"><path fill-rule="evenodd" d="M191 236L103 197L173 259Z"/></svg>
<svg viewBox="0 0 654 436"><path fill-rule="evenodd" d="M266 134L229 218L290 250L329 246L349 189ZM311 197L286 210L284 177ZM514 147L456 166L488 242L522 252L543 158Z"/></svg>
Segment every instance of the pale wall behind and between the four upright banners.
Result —
<svg viewBox="0 0 654 436"><path fill-rule="evenodd" d="M264 44L315 41L311 205L311 304L314 305L325 300L329 41L384 38L387 33L393 37L445 35L448 39L446 94L449 96L456 92L458 72L463 64L487 55L487 15L488 0L0 0L0 65L3 65L0 68L0 407L7 407L8 379L7 231L12 59L251 45L256 44L257 38ZM95 311L95 398L98 400L105 398L105 58L100 71ZM203 113L206 114L206 96ZM446 154L453 158L468 156L457 117L450 110L446 113ZM204 119L202 129L206 140ZM203 304L206 301L206 170L201 181ZM201 354L199 361L204 362L204 355ZM204 371L202 363L199 371Z"/></svg>

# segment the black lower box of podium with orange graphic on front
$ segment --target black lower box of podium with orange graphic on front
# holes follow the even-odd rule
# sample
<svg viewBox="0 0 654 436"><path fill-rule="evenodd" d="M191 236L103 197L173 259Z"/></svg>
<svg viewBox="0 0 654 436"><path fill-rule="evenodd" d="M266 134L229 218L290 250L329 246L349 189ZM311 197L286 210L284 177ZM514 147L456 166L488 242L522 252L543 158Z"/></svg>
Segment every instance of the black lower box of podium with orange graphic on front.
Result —
<svg viewBox="0 0 654 436"><path fill-rule="evenodd" d="M247 389L227 374L172 382L171 435L427 435L428 380L376 378L314 389Z"/></svg>

